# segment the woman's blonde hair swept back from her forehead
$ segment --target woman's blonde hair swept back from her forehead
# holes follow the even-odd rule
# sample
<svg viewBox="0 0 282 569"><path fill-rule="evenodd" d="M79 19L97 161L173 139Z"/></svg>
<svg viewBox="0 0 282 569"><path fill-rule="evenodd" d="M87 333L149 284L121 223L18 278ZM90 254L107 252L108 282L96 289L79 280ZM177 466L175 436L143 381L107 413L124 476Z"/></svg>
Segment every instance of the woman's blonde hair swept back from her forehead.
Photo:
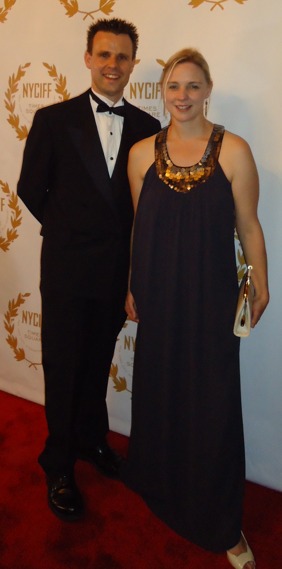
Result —
<svg viewBox="0 0 282 569"><path fill-rule="evenodd" d="M163 72L160 76L160 85L161 85L161 96L163 97L164 106L165 106L165 89L167 87L169 78L173 72L173 69L176 65L180 63L194 63L202 69L202 72L205 75L206 83L210 86L213 85L212 77L210 77L210 70L209 65L205 60L205 57L202 56L200 51L194 50L192 47L185 48L184 50L177 51L174 55L169 57L167 63L163 68Z"/></svg>

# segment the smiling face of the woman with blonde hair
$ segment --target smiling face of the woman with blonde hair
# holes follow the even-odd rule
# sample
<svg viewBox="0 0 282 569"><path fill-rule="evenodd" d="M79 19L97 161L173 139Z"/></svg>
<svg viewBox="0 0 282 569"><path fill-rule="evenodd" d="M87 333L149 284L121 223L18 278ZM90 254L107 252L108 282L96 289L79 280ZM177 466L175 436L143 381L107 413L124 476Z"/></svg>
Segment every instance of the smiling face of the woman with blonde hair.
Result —
<svg viewBox="0 0 282 569"><path fill-rule="evenodd" d="M203 114L204 101L212 85L204 71L194 63L179 63L173 69L165 89L165 107L172 118L186 122Z"/></svg>

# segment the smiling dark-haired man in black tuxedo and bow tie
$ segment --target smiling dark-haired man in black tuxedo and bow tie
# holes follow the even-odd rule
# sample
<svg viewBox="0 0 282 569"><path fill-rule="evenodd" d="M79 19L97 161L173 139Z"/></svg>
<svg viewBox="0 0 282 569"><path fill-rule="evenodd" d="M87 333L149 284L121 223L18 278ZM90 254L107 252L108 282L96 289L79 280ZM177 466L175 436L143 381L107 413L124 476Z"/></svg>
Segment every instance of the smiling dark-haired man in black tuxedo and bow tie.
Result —
<svg viewBox="0 0 282 569"><path fill-rule="evenodd" d="M88 30L92 88L38 110L23 154L18 195L42 224L42 357L49 436L39 456L48 505L82 516L77 459L118 478L122 457L107 443L106 391L124 310L133 220L127 158L160 130L123 89L138 34L119 19Z"/></svg>

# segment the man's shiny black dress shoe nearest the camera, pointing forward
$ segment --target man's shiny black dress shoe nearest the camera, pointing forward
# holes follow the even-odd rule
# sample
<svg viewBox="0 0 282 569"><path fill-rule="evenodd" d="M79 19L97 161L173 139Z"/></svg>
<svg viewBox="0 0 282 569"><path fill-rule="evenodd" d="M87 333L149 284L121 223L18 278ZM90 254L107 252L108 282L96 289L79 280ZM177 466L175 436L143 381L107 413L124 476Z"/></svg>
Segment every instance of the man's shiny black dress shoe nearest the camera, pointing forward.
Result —
<svg viewBox="0 0 282 569"><path fill-rule="evenodd" d="M48 506L57 518L74 522L84 514L84 503L73 478L60 476L55 480L46 477Z"/></svg>

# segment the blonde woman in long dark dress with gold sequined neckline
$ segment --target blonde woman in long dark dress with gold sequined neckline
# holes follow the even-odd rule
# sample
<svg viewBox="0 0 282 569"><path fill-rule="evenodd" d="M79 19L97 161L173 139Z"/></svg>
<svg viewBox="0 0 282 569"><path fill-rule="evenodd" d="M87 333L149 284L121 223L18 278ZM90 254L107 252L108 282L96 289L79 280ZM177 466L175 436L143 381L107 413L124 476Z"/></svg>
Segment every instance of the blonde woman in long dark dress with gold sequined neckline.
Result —
<svg viewBox="0 0 282 569"><path fill-rule="evenodd" d="M161 85L171 123L128 162L136 215L126 310L138 331L122 476L177 533L254 569L241 533L234 225L253 267L254 328L268 303L258 174L247 143L204 116L213 84L201 53L172 56Z"/></svg>

